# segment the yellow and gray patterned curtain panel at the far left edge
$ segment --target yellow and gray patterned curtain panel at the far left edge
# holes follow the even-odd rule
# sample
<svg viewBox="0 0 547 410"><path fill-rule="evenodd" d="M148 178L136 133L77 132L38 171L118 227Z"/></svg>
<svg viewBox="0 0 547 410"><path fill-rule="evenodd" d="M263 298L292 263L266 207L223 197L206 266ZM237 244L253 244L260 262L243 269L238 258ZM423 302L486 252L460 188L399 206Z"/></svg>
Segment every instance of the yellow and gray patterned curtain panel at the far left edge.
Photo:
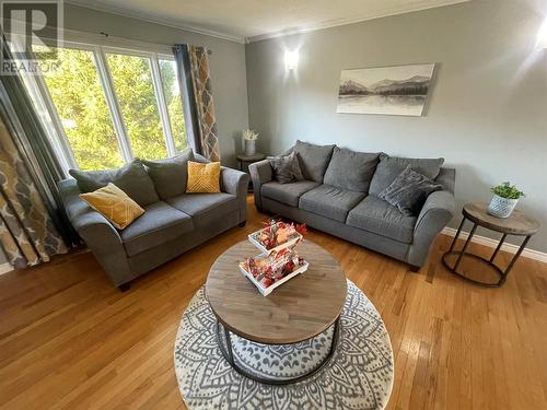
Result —
<svg viewBox="0 0 547 410"><path fill-rule="evenodd" d="M67 247L31 173L0 118L0 244L15 269L49 260Z"/></svg>

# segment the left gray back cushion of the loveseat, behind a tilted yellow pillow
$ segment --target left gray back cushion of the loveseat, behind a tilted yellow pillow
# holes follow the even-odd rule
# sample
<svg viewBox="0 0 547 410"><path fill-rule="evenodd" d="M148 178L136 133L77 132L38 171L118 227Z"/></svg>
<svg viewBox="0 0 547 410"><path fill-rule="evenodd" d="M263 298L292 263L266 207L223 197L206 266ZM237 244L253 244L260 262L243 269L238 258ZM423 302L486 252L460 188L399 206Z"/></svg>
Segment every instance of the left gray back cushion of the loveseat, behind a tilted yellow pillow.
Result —
<svg viewBox="0 0 547 410"><path fill-rule="evenodd" d="M154 183L148 176L144 165L139 159L116 169L78 171L69 169L69 174L78 181L82 192L92 192L113 183L127 194L139 206L144 207L158 202Z"/></svg>

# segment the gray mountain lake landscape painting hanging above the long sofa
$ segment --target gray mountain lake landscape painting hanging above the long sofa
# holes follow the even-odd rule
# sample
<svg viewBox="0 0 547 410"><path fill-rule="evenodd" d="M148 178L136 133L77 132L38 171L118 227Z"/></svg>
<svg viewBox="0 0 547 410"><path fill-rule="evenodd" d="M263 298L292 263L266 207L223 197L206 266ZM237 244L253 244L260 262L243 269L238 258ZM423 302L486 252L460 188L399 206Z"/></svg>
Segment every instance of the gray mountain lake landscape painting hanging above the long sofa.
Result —
<svg viewBox="0 0 547 410"><path fill-rule="evenodd" d="M421 116L435 65L342 70L337 113Z"/></svg>

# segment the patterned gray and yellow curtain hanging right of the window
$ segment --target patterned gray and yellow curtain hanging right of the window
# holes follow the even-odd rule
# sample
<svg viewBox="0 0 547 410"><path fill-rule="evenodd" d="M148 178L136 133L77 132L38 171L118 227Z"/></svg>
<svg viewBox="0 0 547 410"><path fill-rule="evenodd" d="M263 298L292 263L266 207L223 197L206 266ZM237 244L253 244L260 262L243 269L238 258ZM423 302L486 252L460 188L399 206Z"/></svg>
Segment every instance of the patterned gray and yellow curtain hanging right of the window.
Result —
<svg viewBox="0 0 547 410"><path fill-rule="evenodd" d="M220 161L219 137L211 92L209 54L205 47L177 45L181 95L191 148L210 161Z"/></svg>

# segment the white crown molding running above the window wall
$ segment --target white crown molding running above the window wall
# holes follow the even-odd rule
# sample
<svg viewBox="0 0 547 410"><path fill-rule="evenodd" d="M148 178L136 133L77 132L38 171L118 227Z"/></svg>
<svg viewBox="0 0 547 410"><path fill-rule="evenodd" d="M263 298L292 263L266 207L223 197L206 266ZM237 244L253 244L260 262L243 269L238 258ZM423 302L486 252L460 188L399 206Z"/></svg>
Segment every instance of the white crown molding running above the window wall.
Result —
<svg viewBox="0 0 547 410"><path fill-rule="evenodd" d="M91 9L91 10L96 10L96 11L102 11L110 14L117 14L121 15L124 17L130 17L130 19L136 19L136 20L142 20L148 23L155 23L155 24L161 24L167 27L173 27L173 28L178 28L178 30L184 30L186 32L195 33L195 34L201 34L205 36L209 37L216 37L216 38L221 38L225 39L229 42L235 42L240 44L245 44L245 37L243 36L236 36L228 33L221 33L217 32L213 30L200 27L190 23L182 23L181 21L176 21L174 19L165 19L165 17L160 17L155 15L150 15L146 13L140 13L133 10L128 10L125 8L118 8L114 7L110 4L105 4L101 1L94 1L92 4L86 1L86 0L66 0L66 3L78 5L81 8L85 9Z"/></svg>

